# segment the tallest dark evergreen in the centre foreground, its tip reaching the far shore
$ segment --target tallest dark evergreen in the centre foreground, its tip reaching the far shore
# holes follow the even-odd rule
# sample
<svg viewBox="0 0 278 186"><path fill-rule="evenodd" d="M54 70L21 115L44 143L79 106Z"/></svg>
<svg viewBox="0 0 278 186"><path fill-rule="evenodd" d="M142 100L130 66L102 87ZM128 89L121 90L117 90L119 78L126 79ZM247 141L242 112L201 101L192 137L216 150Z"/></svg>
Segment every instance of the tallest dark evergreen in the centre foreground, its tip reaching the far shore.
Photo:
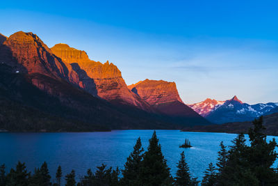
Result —
<svg viewBox="0 0 278 186"><path fill-rule="evenodd" d="M161 145L158 144L154 131L140 166L140 185L170 185L171 183L170 169L163 157Z"/></svg>

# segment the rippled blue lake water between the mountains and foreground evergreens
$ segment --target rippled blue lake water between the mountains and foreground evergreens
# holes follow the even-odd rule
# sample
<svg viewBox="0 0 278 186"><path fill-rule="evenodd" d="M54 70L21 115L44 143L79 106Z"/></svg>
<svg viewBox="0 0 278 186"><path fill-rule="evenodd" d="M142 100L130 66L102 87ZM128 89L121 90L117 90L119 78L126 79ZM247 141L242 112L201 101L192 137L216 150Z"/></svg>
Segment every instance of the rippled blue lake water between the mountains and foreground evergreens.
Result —
<svg viewBox="0 0 278 186"><path fill-rule="evenodd" d="M95 171L96 166L102 163L113 168L117 166L123 168L136 139L140 137L143 148L147 149L152 133L153 130L2 132L0 133L0 164L6 164L10 169L17 164L17 161L26 162L28 170L33 171L35 167L46 161L52 178L59 164L62 166L64 175L74 169L76 176L79 177L85 175L88 168ZM174 176L177 171L177 162L180 153L184 150L190 172L199 180L202 179L208 163L215 164L220 141L223 141L225 146L229 146L231 140L236 137L236 134L180 132L179 130L156 130L156 134L172 175ZM179 148L185 138L190 140L193 148Z"/></svg>

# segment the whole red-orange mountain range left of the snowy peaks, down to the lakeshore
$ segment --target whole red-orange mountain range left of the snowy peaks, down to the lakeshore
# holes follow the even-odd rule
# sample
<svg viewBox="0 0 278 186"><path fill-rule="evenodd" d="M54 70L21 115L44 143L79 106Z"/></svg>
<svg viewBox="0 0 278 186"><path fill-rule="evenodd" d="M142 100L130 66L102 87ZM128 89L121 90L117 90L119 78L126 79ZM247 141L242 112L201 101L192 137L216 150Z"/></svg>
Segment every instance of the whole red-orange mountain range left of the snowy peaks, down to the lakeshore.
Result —
<svg viewBox="0 0 278 186"><path fill-rule="evenodd" d="M127 86L113 63L33 33L0 35L0 130L177 129L211 124L173 82ZM15 117L16 116L16 117Z"/></svg>

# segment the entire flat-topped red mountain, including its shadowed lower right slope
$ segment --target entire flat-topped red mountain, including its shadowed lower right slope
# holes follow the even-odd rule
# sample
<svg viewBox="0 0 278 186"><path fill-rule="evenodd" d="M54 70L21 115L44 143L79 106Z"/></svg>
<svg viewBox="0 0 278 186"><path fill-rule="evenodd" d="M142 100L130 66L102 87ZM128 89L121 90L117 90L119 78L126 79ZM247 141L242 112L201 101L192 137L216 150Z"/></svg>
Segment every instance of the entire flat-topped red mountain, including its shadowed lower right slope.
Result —
<svg viewBox="0 0 278 186"><path fill-rule="evenodd" d="M177 121L179 123L186 125L208 124L208 121L183 103L174 82L145 79L130 85L129 88L161 113L179 118Z"/></svg>

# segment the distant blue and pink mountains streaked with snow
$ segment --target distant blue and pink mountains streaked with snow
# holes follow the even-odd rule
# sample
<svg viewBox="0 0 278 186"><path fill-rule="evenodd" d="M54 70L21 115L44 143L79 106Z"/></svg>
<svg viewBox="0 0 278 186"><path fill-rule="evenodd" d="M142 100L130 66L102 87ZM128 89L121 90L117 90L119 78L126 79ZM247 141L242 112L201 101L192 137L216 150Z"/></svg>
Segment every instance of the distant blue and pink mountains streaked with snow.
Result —
<svg viewBox="0 0 278 186"><path fill-rule="evenodd" d="M272 114L277 112L278 103L269 102L266 104L247 104L234 96L230 100L216 101L206 99L204 102L196 104L188 104L198 114L204 116L211 123L228 123L252 121L262 115Z"/></svg>

